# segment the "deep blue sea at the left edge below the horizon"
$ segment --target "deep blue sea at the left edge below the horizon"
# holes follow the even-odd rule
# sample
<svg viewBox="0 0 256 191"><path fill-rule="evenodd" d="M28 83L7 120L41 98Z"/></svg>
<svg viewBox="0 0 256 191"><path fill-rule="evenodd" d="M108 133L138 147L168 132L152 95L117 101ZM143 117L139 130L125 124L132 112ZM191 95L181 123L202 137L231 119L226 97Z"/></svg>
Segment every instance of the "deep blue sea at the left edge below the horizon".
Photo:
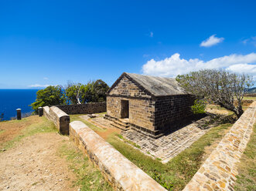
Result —
<svg viewBox="0 0 256 191"><path fill-rule="evenodd" d="M32 112L29 106L36 100L38 89L0 89L0 118L4 120L16 116L16 109L22 109L22 114Z"/></svg>

